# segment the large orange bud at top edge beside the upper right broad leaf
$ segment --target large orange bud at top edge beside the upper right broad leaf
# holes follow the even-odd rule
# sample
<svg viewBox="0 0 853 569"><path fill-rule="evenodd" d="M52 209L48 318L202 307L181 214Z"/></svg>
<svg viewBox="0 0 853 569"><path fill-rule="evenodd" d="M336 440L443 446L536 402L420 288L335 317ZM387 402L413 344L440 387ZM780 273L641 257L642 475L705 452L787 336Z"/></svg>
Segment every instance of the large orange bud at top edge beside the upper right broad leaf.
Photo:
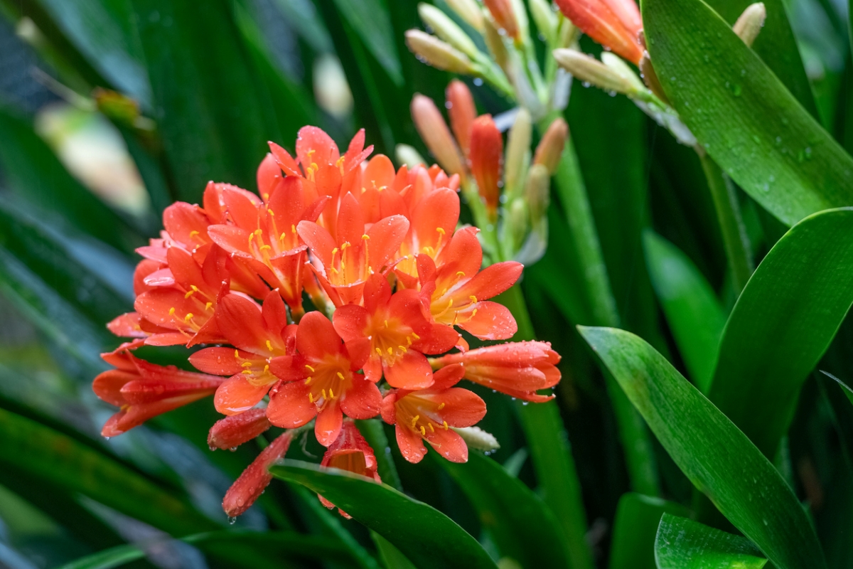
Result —
<svg viewBox="0 0 853 569"><path fill-rule="evenodd" d="M634 0L556 0L581 31L635 65L640 63L640 9Z"/></svg>

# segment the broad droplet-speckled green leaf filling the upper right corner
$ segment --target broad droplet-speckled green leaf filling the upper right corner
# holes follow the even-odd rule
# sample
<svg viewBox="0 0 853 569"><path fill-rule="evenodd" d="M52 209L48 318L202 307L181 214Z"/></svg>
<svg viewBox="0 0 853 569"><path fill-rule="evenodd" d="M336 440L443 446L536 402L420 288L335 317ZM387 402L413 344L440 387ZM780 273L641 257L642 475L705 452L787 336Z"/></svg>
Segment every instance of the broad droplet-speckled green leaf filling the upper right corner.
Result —
<svg viewBox="0 0 853 569"><path fill-rule="evenodd" d="M648 47L702 147L788 225L853 205L853 159L701 0L645 0Z"/></svg>

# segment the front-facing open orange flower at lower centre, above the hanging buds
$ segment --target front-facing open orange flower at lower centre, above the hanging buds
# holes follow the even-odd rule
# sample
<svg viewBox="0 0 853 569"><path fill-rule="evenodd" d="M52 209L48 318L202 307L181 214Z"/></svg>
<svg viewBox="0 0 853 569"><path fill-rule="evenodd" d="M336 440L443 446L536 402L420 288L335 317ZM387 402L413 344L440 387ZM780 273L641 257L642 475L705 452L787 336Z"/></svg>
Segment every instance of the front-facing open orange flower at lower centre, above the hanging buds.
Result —
<svg viewBox="0 0 853 569"><path fill-rule="evenodd" d="M351 357L332 322L309 312L296 330L296 355L272 361L281 384L270 392L267 416L276 427L301 427L316 417L314 433L323 446L338 438L344 414L370 419L379 413L379 388L357 371L363 357Z"/></svg>

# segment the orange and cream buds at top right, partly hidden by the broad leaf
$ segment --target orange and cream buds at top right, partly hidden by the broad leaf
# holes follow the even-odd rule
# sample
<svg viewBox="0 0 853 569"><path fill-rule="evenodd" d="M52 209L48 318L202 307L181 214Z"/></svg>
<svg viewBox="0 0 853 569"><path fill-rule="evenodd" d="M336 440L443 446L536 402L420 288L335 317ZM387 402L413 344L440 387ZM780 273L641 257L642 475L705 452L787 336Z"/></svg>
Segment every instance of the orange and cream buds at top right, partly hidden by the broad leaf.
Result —
<svg viewBox="0 0 853 569"><path fill-rule="evenodd" d="M554 59L585 85L628 96L643 112L668 129L676 140L696 145L696 137L678 117L664 93L646 49L640 10L634 0L556 0L578 29L601 44L601 61L572 48L554 49ZM751 4L735 22L734 32L751 45L764 24L763 3ZM640 70L638 76L629 65Z"/></svg>

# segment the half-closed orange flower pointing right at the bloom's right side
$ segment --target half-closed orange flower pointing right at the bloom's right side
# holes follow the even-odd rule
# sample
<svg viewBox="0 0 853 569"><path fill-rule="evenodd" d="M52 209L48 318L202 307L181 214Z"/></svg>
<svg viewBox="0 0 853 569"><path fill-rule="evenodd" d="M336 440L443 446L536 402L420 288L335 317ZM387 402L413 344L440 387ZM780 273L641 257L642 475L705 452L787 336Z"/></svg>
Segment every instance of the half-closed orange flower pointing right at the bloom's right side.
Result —
<svg viewBox="0 0 853 569"><path fill-rule="evenodd" d="M461 364L465 379L506 393L514 398L544 403L554 395L540 395L560 381L560 354L548 342L513 342L449 354L432 360L432 365Z"/></svg>

